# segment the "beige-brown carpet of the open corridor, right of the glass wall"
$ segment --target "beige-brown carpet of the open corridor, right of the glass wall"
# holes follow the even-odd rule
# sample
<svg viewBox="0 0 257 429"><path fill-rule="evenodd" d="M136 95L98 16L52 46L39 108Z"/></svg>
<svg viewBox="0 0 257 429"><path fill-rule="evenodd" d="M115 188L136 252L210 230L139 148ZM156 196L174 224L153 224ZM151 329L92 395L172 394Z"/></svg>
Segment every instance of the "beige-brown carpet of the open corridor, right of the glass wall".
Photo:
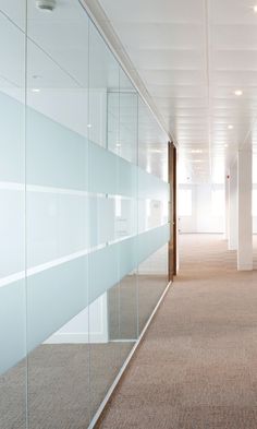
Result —
<svg viewBox="0 0 257 429"><path fill-rule="evenodd" d="M257 272L237 273L221 236L180 247L180 275L101 429L257 428Z"/></svg>

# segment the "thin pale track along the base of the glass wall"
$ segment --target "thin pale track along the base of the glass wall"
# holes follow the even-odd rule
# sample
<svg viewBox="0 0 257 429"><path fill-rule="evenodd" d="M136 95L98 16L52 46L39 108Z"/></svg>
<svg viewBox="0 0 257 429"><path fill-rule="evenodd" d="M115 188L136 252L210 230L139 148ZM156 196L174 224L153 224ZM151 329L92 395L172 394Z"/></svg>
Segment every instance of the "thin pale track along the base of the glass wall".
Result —
<svg viewBox="0 0 257 429"><path fill-rule="evenodd" d="M100 416L101 416L101 414L102 414L102 412L103 412L106 405L108 404L108 402L109 402L109 400L110 400L110 397L111 397L111 395L112 395L112 393L113 393L113 391L114 391L117 384L119 383L121 377L123 376L124 371L126 370L127 365L130 364L130 361L131 361L131 359L132 359L134 353L136 351L138 345L140 344L142 338L144 337L144 335L145 335L145 333L146 333L146 331L147 331L147 329L148 329L148 326L149 326L149 324L150 324L150 322L151 322L154 315L156 314L156 312L157 312L157 310L158 310L158 308L159 308L161 301L163 300L166 294L168 293L168 290L169 290L171 284L172 284L172 282L170 282L170 283L167 285L167 287L166 287L163 294L161 295L159 301L157 302L157 305L156 305L156 307L155 307L155 310L152 311L152 313L151 313L151 315L149 317L149 319L148 319L148 321L147 321L147 323L146 323L144 330L142 331L142 333L140 333L138 339L137 339L137 342L135 343L134 347L132 348L132 350L131 350L128 357L126 358L125 362L123 364L122 368L120 369L120 371L119 371L119 373L118 373L118 376L117 376L114 382L113 382L112 385L110 386L110 389L109 389L109 391L108 391L108 393L107 393L105 400L102 401L101 405L99 406L98 410L96 412L95 416L93 417L93 420L91 420L90 425L88 426L88 429L94 429L95 426L96 426L96 424L98 422L98 420L99 420L99 418L100 418Z"/></svg>

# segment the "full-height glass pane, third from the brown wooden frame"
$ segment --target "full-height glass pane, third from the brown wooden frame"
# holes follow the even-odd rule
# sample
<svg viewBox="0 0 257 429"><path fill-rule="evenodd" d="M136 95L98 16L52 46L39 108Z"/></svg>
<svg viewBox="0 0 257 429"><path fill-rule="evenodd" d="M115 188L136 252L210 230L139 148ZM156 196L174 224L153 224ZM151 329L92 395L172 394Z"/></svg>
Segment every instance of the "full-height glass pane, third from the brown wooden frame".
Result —
<svg viewBox="0 0 257 429"><path fill-rule="evenodd" d="M101 250L89 254L89 294L93 306L90 308L89 342L90 342L90 409L94 415L110 385L113 383L120 368L120 344L112 342L110 330L119 329L119 318L109 321L108 308L110 306L109 294L111 294L111 306L113 312L119 312L119 253L112 249L111 242L115 240L115 193L118 188L118 159L109 152L109 132L113 140L119 135L119 116L109 100L109 88L115 91L119 97L120 67L108 46L95 28L89 24L89 191L98 194L102 204L98 204L90 216L90 230L96 234L97 246ZM119 106L119 105L118 105ZM109 127L110 131L109 131ZM107 131L108 130L108 131ZM111 141L113 141L111 140ZM97 150L95 144L101 146ZM101 155L99 155L101 154ZM99 156L101 158L99 158ZM108 157L108 158L107 158ZM108 168L110 163L111 171ZM99 165L100 160L100 165ZM95 171L97 171L97 177ZM99 227L106 228L105 241L99 241ZM90 246L93 248L93 243ZM97 248L96 248L97 249ZM100 253L100 254L99 254ZM108 273L111 264L112 272ZM98 273L107 272L107 279L111 275L114 283L109 288L102 288L95 299L95 282L101 285ZM99 278L98 278L99 277ZM98 320L98 327L94 321Z"/></svg>

